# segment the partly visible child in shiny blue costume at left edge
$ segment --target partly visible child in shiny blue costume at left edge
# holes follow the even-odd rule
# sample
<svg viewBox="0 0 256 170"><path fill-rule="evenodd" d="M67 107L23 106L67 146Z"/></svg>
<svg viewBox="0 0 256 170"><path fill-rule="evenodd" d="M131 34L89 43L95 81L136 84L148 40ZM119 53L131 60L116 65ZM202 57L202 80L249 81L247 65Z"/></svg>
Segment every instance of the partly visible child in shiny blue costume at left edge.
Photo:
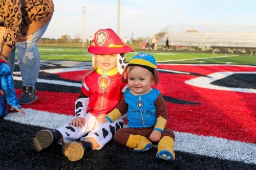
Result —
<svg viewBox="0 0 256 170"><path fill-rule="evenodd" d="M4 60L0 59L0 118L4 118L8 114L8 109L5 105L4 99L6 98L7 104L11 106L11 110L16 110L25 114L25 111L20 107L14 91L13 78L11 69Z"/></svg>

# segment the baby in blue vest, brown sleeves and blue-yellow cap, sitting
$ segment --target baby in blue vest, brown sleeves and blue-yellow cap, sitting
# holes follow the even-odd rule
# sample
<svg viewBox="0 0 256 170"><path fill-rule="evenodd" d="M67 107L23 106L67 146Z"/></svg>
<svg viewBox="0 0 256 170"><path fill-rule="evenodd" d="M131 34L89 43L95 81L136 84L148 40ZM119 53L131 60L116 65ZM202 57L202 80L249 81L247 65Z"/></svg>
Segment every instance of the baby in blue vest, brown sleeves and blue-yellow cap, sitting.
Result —
<svg viewBox="0 0 256 170"><path fill-rule="evenodd" d="M174 132L166 128L167 110L161 92L152 88L158 84L157 63L147 53L139 53L130 60L124 70L123 80L129 88L124 92L120 103L101 120L102 123L115 122L127 114L128 128L117 130L115 139L119 144L144 152L158 142L156 157L168 161L175 160Z"/></svg>

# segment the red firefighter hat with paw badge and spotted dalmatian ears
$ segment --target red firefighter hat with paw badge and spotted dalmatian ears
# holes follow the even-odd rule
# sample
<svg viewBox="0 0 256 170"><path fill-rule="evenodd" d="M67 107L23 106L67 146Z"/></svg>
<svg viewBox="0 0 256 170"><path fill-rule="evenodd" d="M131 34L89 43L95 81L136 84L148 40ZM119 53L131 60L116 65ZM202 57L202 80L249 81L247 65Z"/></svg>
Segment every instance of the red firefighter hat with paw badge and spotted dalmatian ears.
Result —
<svg viewBox="0 0 256 170"><path fill-rule="evenodd" d="M94 65L95 55L117 54L117 68L120 74L126 66L125 53L134 52L132 48L124 45L122 40L112 29L101 29L94 34L94 45L88 48L93 54L92 64Z"/></svg>

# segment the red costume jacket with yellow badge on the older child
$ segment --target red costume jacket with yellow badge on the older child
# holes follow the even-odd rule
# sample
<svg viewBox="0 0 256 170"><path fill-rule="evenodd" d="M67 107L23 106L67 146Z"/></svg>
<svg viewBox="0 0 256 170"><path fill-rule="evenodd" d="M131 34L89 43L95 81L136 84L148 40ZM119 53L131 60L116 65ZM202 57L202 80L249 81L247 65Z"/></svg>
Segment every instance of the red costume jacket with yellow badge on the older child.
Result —
<svg viewBox="0 0 256 170"><path fill-rule="evenodd" d="M103 76L94 71L84 78L81 92L89 96L87 112L97 117L108 114L116 107L126 85L122 83L121 77L118 72L113 76Z"/></svg>

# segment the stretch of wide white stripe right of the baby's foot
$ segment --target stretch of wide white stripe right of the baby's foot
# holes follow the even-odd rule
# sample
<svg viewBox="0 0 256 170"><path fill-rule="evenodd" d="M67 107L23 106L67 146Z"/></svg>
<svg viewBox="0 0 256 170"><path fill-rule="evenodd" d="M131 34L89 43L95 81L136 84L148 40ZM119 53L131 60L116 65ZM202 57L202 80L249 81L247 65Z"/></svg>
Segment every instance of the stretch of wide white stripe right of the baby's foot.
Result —
<svg viewBox="0 0 256 170"><path fill-rule="evenodd" d="M256 164L256 144L214 136L175 132L175 150Z"/></svg>

